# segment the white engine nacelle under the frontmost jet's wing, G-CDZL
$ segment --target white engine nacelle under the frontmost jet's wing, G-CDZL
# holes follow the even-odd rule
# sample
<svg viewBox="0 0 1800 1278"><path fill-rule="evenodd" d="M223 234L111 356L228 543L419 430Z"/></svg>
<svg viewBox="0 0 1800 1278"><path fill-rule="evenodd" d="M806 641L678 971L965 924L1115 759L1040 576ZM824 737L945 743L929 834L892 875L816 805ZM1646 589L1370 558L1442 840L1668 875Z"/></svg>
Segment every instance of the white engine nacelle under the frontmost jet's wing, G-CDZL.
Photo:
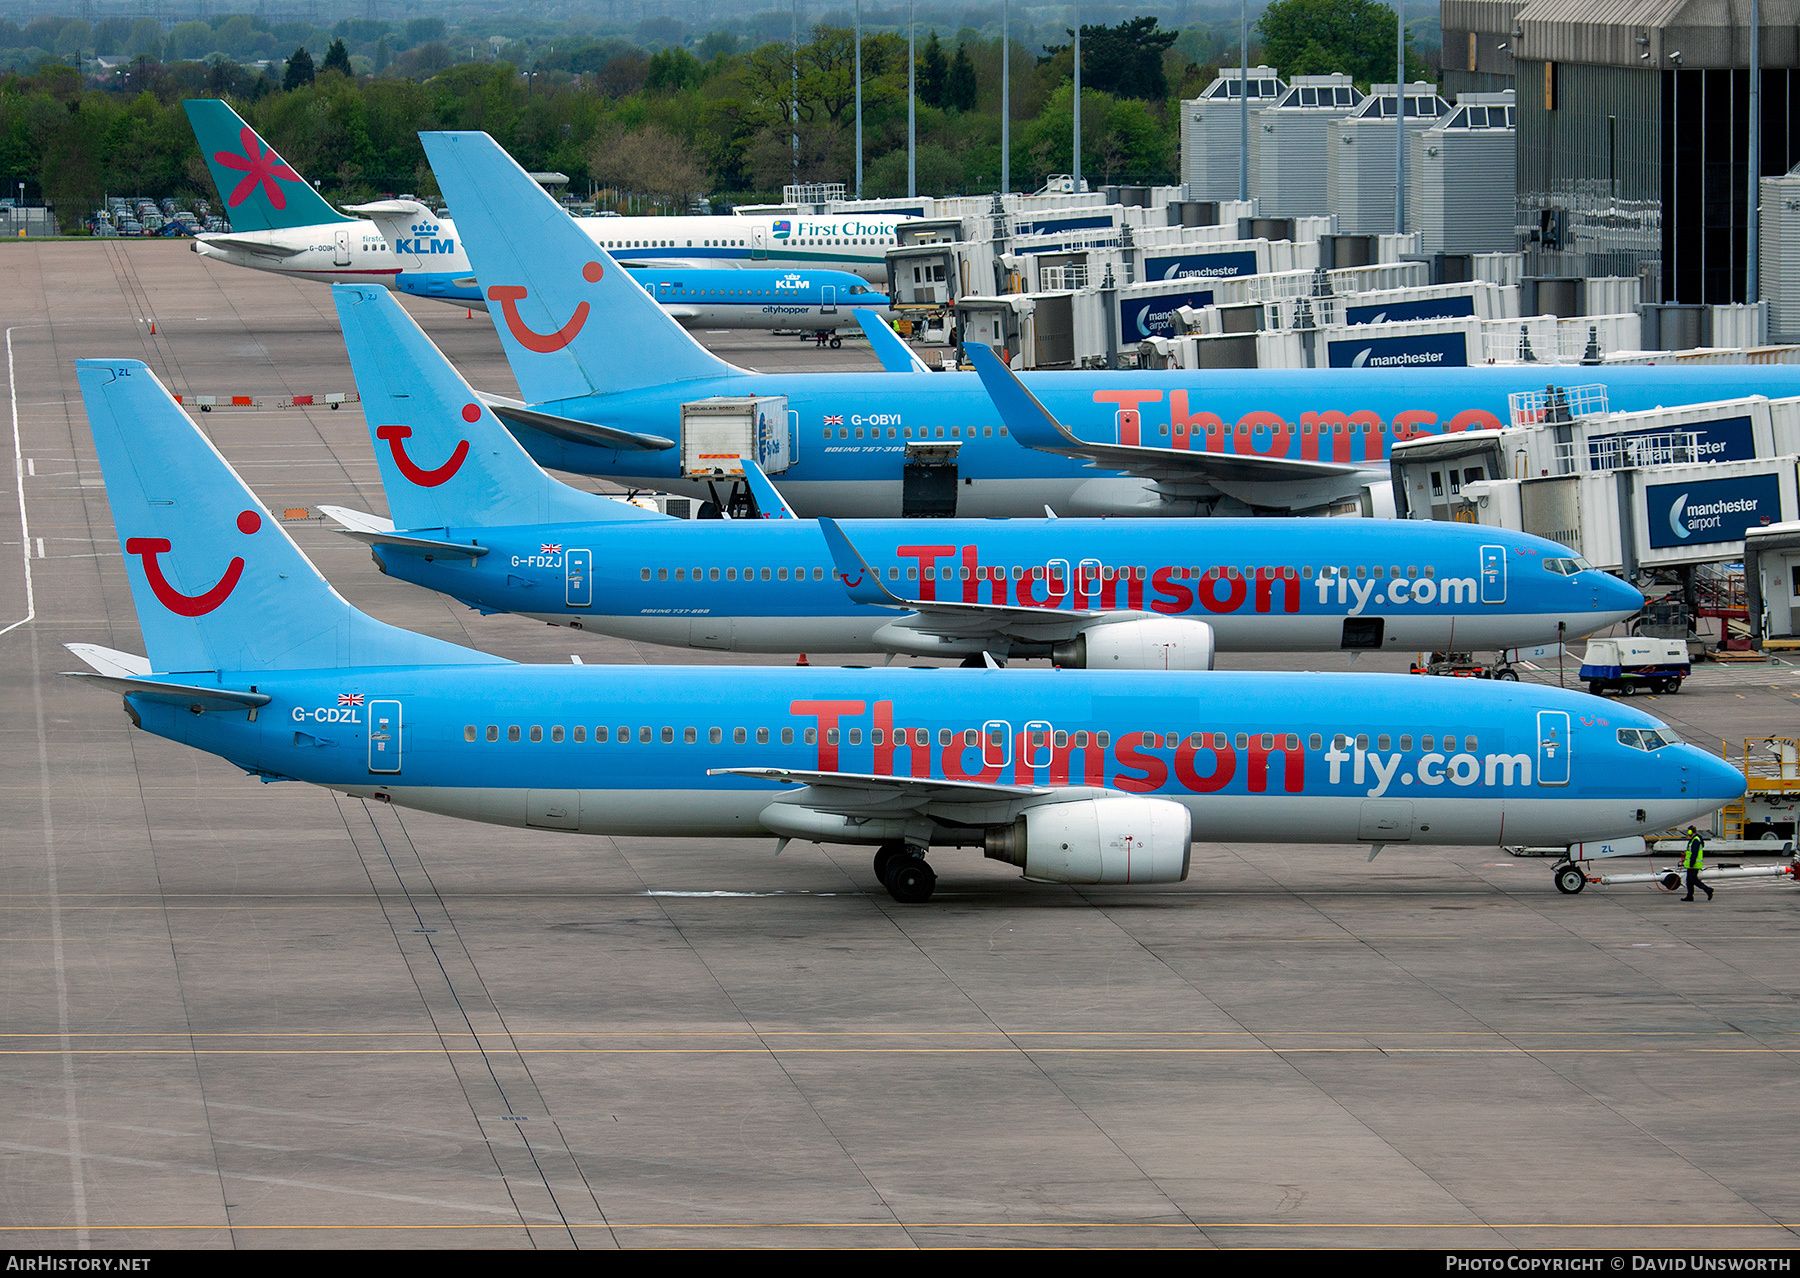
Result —
<svg viewBox="0 0 1800 1278"><path fill-rule="evenodd" d="M986 855L1053 884L1179 884L1188 877L1188 810L1168 799L1046 803L988 830Z"/></svg>

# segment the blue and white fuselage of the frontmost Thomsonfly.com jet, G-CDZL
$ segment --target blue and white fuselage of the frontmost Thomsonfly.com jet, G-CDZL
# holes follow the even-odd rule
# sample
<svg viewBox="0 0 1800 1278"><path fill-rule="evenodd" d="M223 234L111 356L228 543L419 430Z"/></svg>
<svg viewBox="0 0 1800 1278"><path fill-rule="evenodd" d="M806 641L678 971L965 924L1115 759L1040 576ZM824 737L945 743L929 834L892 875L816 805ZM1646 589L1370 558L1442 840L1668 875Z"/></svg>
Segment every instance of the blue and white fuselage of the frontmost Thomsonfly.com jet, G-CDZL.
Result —
<svg viewBox="0 0 1800 1278"><path fill-rule="evenodd" d="M1649 715L1537 684L513 664L216 682L272 700L254 715L130 700L144 729L268 779L585 833L769 837L763 812L792 790L707 776L727 767L1107 787L1184 805L1199 839L1255 842L1345 842L1388 801L1409 805L1397 842L1564 844L1658 830L1742 790L1690 745L1627 745L1660 727Z"/></svg>

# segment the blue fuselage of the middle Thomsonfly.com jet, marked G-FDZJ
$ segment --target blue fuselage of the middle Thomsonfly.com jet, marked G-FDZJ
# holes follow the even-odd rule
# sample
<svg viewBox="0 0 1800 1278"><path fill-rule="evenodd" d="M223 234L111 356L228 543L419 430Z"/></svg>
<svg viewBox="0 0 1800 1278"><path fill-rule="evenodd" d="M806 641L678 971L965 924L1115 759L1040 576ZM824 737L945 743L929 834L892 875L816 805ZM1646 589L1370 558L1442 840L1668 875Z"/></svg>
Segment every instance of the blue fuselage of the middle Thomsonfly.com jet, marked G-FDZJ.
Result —
<svg viewBox="0 0 1800 1278"><path fill-rule="evenodd" d="M1184 617L1211 625L1226 652L1519 648L1591 634L1643 603L1555 542L1465 524L855 520L844 533L904 599ZM378 545L376 562L486 612L673 646L1008 650L916 634L904 612L853 603L814 520L448 527L441 536L488 553L468 560Z"/></svg>

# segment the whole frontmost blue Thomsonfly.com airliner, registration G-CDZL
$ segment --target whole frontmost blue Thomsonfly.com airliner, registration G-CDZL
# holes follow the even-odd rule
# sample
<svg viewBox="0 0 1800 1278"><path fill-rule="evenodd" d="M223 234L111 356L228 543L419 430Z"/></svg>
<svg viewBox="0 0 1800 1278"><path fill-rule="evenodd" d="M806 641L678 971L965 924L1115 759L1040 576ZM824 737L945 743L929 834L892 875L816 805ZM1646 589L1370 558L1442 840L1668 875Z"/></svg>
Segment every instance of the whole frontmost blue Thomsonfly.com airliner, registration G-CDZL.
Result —
<svg viewBox="0 0 1800 1278"><path fill-rule="evenodd" d="M137 360L77 360L148 655L70 644L130 720L265 781L504 826L931 848L1159 884L1193 837L1571 844L1742 794L1652 716L1409 675L526 666L319 574Z"/></svg>

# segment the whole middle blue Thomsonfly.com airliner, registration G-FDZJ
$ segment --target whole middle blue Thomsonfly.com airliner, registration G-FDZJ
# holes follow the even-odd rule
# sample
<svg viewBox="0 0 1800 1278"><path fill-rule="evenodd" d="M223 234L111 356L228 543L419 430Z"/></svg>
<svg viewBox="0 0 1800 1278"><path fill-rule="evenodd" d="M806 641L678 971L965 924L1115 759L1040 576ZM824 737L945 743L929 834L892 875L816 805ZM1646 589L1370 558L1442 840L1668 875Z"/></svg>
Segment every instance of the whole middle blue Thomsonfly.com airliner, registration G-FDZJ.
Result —
<svg viewBox="0 0 1800 1278"><path fill-rule="evenodd" d="M331 290L391 518L320 508L383 572L484 612L677 648L1053 657L1208 670L1226 652L1496 650L1643 596L1568 549L1467 524L680 520L544 473L383 290ZM1042 407L986 351L1003 416ZM785 515L785 518L781 518ZM1325 562L1325 560L1330 562ZM1199 562L1195 562L1199 560Z"/></svg>

